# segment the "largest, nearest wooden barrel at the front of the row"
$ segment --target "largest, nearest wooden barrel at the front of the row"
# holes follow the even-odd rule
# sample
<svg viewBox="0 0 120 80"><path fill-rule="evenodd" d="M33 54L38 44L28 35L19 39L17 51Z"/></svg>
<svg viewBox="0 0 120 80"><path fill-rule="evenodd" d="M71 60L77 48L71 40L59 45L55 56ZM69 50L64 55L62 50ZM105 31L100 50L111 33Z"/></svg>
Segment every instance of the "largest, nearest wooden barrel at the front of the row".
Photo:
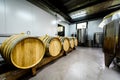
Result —
<svg viewBox="0 0 120 80"><path fill-rule="evenodd" d="M45 53L45 45L38 38L27 35L13 35L1 45L2 57L20 69L38 64Z"/></svg>

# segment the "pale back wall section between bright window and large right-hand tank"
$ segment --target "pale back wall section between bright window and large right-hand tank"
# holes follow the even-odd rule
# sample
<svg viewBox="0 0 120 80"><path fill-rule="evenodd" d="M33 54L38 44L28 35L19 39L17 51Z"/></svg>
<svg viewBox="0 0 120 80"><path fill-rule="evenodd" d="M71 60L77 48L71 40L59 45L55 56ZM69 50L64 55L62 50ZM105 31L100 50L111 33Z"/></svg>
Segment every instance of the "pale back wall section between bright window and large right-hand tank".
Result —
<svg viewBox="0 0 120 80"><path fill-rule="evenodd" d="M98 27L102 19L88 21L88 39L93 40L95 32L103 32L103 29Z"/></svg>

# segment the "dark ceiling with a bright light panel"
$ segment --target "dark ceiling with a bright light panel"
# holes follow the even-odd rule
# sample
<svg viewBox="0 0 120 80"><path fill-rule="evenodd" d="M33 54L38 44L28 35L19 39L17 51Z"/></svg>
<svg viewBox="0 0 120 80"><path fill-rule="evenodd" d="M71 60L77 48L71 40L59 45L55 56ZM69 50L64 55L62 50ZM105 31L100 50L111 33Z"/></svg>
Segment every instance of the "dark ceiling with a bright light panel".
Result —
<svg viewBox="0 0 120 80"><path fill-rule="evenodd" d="M37 6L42 4L60 14L70 23L103 18L120 9L120 0L27 0Z"/></svg>

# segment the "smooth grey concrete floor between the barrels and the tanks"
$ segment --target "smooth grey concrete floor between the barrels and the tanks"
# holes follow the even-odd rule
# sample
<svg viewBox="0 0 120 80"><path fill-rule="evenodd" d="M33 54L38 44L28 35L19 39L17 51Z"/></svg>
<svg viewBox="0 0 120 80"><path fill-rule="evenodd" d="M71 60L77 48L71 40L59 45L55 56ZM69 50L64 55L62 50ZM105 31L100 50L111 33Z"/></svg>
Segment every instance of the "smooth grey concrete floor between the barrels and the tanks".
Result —
<svg viewBox="0 0 120 80"><path fill-rule="evenodd" d="M120 80L120 74L105 68L101 49L78 47L29 80Z"/></svg>

